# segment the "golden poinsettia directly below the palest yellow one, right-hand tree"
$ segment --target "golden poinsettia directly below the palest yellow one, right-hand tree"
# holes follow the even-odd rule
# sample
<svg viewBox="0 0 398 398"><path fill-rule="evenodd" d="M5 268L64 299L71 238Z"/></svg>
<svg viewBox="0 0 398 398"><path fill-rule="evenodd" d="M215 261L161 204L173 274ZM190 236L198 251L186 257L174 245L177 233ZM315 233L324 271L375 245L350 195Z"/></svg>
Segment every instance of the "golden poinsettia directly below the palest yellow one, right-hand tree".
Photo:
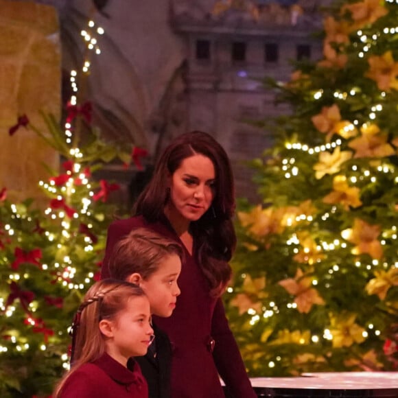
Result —
<svg viewBox="0 0 398 398"><path fill-rule="evenodd" d="M324 203L341 204L345 210L349 211L350 207L360 207L361 190L357 187L350 187L347 184L346 176L336 176L333 178L333 191L323 198Z"/></svg>

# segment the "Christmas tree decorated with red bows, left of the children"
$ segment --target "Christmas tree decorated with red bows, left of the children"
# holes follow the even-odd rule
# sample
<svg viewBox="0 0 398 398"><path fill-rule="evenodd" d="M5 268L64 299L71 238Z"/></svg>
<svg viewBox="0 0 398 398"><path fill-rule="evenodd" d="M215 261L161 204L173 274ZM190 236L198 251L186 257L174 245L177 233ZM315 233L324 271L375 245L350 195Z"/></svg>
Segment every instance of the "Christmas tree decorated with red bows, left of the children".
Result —
<svg viewBox="0 0 398 398"><path fill-rule="evenodd" d="M69 327L86 290L100 277L106 231L115 216L108 202L116 184L96 180L93 173L131 153L104 142L91 125L92 105L79 91L88 78L90 51L100 54L97 34L88 22L82 71L71 71L73 95L65 107L65 123L43 113L47 131L21 115L10 136L27 128L60 154L61 169L47 167L40 203L26 198L11 202L0 187L0 395L49 395L69 367ZM93 45L95 38L95 45ZM128 146L128 145L127 145ZM145 154L132 151L133 160ZM138 163L139 165L139 163ZM45 208L42 209L42 202Z"/></svg>

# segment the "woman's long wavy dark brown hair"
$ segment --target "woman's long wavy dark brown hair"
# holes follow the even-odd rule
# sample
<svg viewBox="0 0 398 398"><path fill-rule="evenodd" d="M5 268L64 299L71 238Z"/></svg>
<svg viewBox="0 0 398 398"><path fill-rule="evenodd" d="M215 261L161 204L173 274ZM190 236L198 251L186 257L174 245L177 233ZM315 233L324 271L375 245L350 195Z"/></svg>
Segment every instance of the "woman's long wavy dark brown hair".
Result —
<svg viewBox="0 0 398 398"><path fill-rule="evenodd" d="M191 222L194 252L209 282L211 294L219 295L231 278L231 259L236 246L232 217L235 211L233 172L224 148L206 132L180 135L165 149L156 163L154 175L134 204L133 214L156 222L163 217L169 195L167 176L174 174L182 161L195 154L207 156L215 168L215 196L210 209L200 220Z"/></svg>

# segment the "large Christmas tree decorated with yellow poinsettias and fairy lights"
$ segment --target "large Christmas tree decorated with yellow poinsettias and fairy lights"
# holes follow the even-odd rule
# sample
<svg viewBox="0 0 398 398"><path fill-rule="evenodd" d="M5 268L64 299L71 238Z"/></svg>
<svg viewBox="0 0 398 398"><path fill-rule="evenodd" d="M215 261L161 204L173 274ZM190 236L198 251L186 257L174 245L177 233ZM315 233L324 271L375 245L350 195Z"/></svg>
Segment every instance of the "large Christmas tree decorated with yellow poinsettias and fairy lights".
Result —
<svg viewBox="0 0 398 398"><path fill-rule="evenodd" d="M253 162L226 294L252 376L398 366L398 1L338 1ZM268 126L268 128L271 128Z"/></svg>

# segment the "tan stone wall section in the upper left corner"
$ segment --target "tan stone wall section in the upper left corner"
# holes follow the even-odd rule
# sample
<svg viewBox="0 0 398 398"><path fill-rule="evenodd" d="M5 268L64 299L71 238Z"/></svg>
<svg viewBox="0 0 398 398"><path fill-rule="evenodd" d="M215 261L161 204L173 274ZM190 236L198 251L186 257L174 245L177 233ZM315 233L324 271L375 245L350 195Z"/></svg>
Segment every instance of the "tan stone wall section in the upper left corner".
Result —
<svg viewBox="0 0 398 398"><path fill-rule="evenodd" d="M56 10L32 1L0 0L0 190L8 198L40 196L42 163L58 166L58 154L21 128L8 128L19 115L45 132L40 110L60 116L60 39Z"/></svg>

